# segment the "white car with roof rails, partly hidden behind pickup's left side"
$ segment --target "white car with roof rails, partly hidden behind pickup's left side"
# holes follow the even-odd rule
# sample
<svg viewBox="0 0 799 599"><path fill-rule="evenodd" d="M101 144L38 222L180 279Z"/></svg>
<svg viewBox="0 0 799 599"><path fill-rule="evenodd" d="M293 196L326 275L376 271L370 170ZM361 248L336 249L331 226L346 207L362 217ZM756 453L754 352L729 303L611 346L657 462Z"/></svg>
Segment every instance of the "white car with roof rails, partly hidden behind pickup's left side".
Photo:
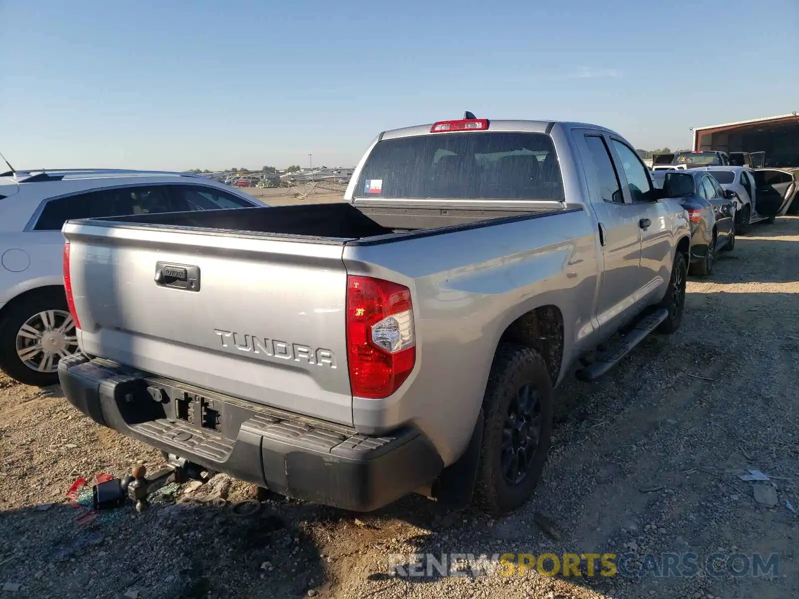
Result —
<svg viewBox="0 0 799 599"><path fill-rule="evenodd" d="M0 369L21 383L58 383L58 360L78 349L64 291L64 221L264 205L188 173L0 173Z"/></svg>

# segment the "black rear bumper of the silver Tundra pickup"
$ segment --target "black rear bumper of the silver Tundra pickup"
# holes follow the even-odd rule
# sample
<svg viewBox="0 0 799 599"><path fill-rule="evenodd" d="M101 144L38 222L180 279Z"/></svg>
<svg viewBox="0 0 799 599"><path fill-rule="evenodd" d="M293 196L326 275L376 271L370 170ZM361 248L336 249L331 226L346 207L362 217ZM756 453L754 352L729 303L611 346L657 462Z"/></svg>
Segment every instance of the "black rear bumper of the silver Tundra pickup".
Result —
<svg viewBox="0 0 799 599"><path fill-rule="evenodd" d="M432 482L443 462L418 430L369 437L76 355L58 377L95 422L304 501L369 511Z"/></svg>

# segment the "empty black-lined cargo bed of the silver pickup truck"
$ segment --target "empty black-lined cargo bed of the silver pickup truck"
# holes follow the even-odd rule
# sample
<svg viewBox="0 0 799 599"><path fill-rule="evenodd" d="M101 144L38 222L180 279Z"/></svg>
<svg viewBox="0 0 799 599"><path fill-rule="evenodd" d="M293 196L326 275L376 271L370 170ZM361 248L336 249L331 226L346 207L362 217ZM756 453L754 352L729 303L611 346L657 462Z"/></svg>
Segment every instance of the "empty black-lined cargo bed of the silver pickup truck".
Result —
<svg viewBox="0 0 799 599"><path fill-rule="evenodd" d="M335 204L304 204L271 208L231 208L196 212L168 212L113 216L97 220L117 223L152 224L163 227L213 229L244 233L268 233L277 236L308 237L319 242L329 240L369 240L372 243L396 240L398 234L428 233L435 229L485 226L495 219L530 218L562 211L561 204L529 209L471 208L400 208ZM403 235L404 236L404 235Z"/></svg>

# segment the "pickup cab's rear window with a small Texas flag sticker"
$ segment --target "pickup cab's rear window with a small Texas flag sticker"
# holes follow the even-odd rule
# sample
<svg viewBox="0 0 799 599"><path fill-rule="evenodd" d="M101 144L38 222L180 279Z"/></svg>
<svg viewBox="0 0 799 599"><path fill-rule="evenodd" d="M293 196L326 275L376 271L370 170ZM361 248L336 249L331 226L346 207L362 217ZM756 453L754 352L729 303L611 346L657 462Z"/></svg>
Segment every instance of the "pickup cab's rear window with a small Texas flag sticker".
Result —
<svg viewBox="0 0 799 599"><path fill-rule="evenodd" d="M562 200L558 158L544 133L438 133L378 142L354 196Z"/></svg>

